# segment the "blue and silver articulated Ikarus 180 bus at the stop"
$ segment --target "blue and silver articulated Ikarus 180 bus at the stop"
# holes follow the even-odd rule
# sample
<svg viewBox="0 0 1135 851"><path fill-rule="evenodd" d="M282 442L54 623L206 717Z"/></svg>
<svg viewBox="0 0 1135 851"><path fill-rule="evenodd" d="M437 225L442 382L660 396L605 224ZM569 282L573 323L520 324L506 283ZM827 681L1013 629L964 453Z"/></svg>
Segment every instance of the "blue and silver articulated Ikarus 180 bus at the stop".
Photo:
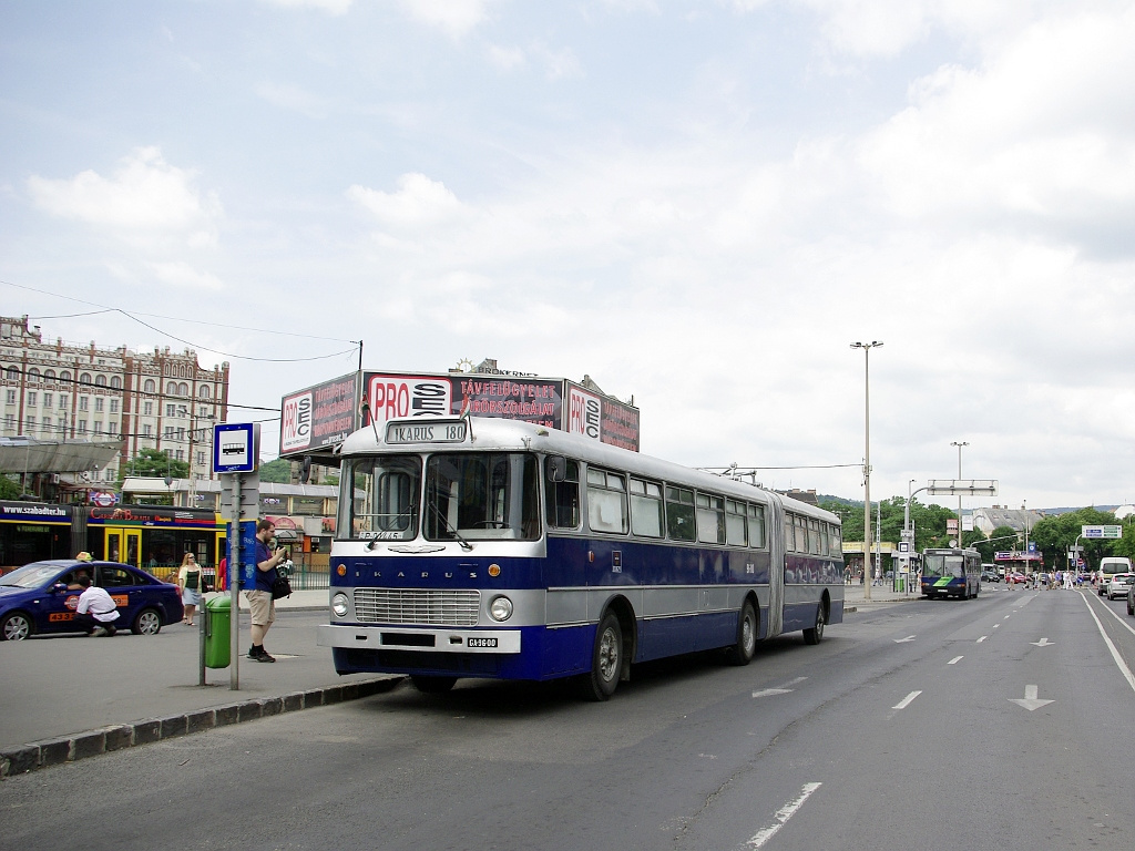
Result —
<svg viewBox="0 0 1135 851"><path fill-rule="evenodd" d="M318 642L340 674L578 676L843 620L839 519L759 487L503 419L393 421L342 446ZM352 498L360 490L362 498Z"/></svg>

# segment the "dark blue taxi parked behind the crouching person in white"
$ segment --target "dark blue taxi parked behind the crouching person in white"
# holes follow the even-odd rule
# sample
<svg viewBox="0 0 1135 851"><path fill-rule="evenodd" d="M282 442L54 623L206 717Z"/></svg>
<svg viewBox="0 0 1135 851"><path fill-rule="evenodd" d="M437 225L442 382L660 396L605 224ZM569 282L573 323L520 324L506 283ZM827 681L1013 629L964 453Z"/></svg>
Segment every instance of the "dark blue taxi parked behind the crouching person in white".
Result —
<svg viewBox="0 0 1135 851"><path fill-rule="evenodd" d="M77 632L73 620L82 588L79 574L107 589L118 606L119 627L157 635L183 617L177 585L117 562L73 558L32 562L0 576L0 640L22 641L34 633Z"/></svg>

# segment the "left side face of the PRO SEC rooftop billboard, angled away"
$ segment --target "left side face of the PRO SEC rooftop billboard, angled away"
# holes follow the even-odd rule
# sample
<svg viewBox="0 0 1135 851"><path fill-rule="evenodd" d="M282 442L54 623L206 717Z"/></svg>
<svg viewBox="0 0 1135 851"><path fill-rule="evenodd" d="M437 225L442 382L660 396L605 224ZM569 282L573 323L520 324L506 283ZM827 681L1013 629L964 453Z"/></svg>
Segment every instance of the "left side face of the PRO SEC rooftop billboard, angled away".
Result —
<svg viewBox="0 0 1135 851"><path fill-rule="evenodd" d="M352 372L285 396L280 406L280 455L343 443L359 428L359 373Z"/></svg>

